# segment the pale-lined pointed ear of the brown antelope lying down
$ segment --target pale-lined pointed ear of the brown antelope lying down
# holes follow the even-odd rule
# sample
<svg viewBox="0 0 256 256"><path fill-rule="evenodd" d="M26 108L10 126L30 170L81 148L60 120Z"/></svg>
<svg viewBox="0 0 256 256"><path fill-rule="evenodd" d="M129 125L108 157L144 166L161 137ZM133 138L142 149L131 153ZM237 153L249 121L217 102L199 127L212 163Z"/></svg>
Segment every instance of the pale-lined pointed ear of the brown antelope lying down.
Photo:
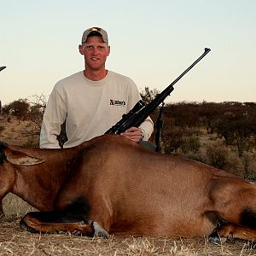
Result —
<svg viewBox="0 0 256 256"><path fill-rule="evenodd" d="M5 156L6 160L17 166L35 166L44 163L42 159L11 149L5 150Z"/></svg>

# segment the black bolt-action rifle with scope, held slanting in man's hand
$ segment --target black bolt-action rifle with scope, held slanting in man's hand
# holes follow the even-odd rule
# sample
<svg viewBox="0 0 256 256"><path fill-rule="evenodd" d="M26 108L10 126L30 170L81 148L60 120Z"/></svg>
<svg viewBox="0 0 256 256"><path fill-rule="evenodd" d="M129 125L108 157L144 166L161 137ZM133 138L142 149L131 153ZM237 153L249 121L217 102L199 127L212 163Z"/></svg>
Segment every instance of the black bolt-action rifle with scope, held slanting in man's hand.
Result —
<svg viewBox="0 0 256 256"><path fill-rule="evenodd" d="M177 79L175 79L172 84L166 87L160 94L154 97L154 100L148 103L146 106L143 100L140 100L136 103L136 105L131 109L129 113L125 113L115 125L113 125L107 133L115 133L120 134L125 132L127 129L131 128L132 126L138 127L143 123L143 121L148 117L150 113L153 113L154 109L157 108L160 103L164 102L167 96L172 93L174 90L173 85L177 83L179 79L183 77L185 73L188 73L189 70L197 64L197 62L201 61L201 59L209 53L211 49L205 48L205 52L195 61L193 62L182 74L180 74Z"/></svg>

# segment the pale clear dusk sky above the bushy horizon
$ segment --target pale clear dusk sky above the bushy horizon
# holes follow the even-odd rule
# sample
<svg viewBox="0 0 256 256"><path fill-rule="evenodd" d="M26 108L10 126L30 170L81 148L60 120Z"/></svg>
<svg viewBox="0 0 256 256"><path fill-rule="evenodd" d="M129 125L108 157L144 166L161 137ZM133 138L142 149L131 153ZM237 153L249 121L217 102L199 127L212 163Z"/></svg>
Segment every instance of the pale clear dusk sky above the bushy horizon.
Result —
<svg viewBox="0 0 256 256"><path fill-rule="evenodd" d="M205 48L166 102L256 102L255 0L0 0L2 105L49 96L84 69L85 29L107 30L107 68L162 91Z"/></svg>

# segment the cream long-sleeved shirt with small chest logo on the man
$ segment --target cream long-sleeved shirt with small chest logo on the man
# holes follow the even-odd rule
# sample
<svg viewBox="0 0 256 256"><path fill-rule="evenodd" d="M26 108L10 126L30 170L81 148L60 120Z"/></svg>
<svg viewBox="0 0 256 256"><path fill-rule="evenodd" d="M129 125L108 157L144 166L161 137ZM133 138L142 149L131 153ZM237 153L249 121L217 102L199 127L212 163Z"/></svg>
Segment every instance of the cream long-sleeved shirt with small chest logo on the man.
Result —
<svg viewBox="0 0 256 256"><path fill-rule="evenodd" d="M137 85L112 71L100 81L86 79L83 71L61 79L55 84L44 112L40 147L60 148L56 137L66 118L68 140L64 148L100 136L140 99ZM148 140L154 129L153 121L148 118L139 127L144 131L144 140Z"/></svg>

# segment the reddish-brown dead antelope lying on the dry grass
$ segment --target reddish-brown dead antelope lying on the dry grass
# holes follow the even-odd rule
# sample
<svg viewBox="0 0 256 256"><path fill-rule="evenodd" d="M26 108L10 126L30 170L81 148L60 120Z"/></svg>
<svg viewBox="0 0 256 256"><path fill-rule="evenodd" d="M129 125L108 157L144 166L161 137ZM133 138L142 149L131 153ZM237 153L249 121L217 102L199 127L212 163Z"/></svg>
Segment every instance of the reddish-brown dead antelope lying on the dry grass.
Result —
<svg viewBox="0 0 256 256"><path fill-rule="evenodd" d="M256 187L211 166L104 135L67 149L0 144L0 196L38 208L32 232L256 239Z"/></svg>

